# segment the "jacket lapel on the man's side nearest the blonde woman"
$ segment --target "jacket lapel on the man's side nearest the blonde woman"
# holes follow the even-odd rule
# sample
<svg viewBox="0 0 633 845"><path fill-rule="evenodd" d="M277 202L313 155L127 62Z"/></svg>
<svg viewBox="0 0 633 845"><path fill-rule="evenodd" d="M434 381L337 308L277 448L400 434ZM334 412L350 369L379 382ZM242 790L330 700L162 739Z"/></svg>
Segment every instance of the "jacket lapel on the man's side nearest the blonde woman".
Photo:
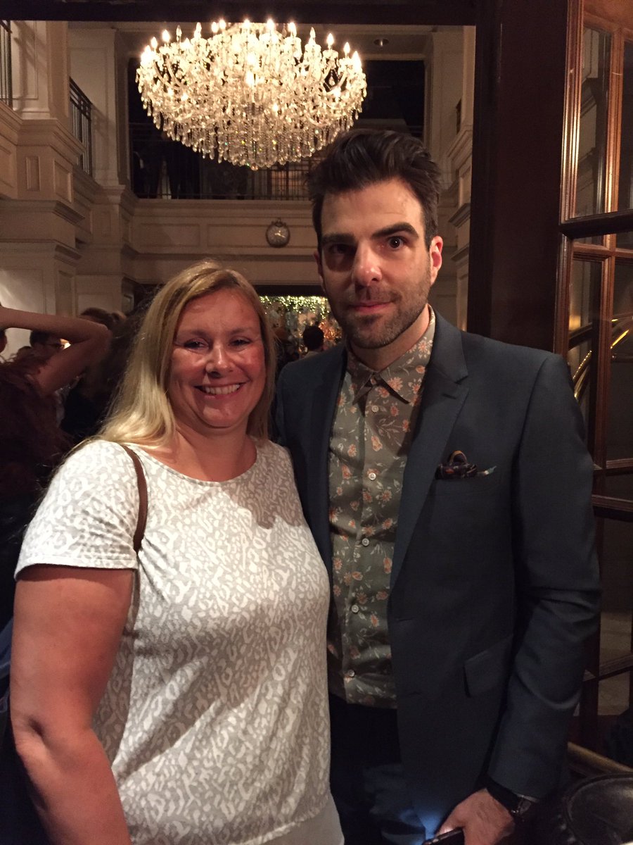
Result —
<svg viewBox="0 0 633 845"><path fill-rule="evenodd" d="M306 455L315 470L311 472L313 484L306 491L310 526L317 547L329 570L332 566L332 543L330 540L329 522L329 481L328 481L328 447L338 390L345 371L346 356L341 345L337 347L338 354L327 356L326 366L322 370L322 378L312 394L312 406L309 409L311 419L306 442Z"/></svg>

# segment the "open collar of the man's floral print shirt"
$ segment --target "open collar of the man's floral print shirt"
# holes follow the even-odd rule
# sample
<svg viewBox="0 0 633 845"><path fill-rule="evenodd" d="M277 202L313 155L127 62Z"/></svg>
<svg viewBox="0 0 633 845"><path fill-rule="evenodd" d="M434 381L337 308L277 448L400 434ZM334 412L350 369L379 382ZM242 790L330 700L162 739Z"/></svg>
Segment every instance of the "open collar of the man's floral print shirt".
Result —
<svg viewBox="0 0 633 845"><path fill-rule="evenodd" d="M424 335L407 352L379 373L367 367L347 347L347 371L351 377L354 402L375 384L385 384L405 402L414 402L429 366L433 338L436 334L436 315L429 306L429 324Z"/></svg>

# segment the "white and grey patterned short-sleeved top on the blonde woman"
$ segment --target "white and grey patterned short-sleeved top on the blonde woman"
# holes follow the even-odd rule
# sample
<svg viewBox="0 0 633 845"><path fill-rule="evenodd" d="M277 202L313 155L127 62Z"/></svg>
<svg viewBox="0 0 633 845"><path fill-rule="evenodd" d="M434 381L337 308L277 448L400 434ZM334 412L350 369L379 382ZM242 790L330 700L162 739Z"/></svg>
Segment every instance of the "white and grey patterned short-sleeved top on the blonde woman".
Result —
<svg viewBox="0 0 633 845"><path fill-rule="evenodd" d="M133 447L68 458L24 539L33 564L138 570L95 732L134 845L338 845L327 788L328 581L289 456L204 482Z"/></svg>

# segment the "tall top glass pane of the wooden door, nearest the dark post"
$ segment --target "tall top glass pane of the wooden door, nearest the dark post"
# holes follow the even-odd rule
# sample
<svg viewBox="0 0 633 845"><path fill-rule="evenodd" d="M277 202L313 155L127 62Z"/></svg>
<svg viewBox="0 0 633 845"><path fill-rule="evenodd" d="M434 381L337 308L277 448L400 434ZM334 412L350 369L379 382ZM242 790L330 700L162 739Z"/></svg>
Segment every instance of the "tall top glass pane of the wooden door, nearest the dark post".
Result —
<svg viewBox="0 0 633 845"><path fill-rule="evenodd" d="M582 95L576 215L605 211L607 106L610 35L586 28L583 35Z"/></svg>

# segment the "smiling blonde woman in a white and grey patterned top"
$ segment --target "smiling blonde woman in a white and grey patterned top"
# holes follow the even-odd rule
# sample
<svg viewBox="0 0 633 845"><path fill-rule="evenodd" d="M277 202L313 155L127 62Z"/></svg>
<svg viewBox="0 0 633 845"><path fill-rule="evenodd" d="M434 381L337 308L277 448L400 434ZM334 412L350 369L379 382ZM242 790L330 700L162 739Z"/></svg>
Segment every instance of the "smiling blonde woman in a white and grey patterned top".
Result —
<svg viewBox="0 0 633 845"><path fill-rule="evenodd" d="M113 415L20 556L12 718L54 845L339 845L327 575L267 439L273 341L210 262L168 282ZM149 509L133 552L140 457Z"/></svg>

